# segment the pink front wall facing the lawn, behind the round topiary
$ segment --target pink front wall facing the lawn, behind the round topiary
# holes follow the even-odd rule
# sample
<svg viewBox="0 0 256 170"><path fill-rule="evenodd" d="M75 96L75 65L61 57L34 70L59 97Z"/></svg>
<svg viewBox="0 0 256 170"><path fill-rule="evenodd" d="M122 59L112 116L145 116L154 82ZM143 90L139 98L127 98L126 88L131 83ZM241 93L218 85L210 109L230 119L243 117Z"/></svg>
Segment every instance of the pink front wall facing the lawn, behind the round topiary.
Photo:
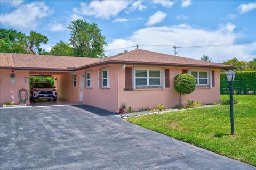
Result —
<svg viewBox="0 0 256 170"><path fill-rule="evenodd" d="M127 65L126 67L145 67L138 65ZM147 66L149 68L152 66ZM154 67L155 68L155 67ZM119 90L119 107L121 103L126 103L126 107L132 106L134 111L141 109L142 107L153 108L157 104L163 104L165 106L174 107L179 103L179 94L174 89L174 77L177 74L181 74L182 69L190 69L188 67L161 67L170 69L170 88L165 89L143 89L124 91L125 88L125 71L120 72L120 90ZM194 70L195 68L193 68ZM199 70L202 70L200 68ZM206 69L209 70L209 69ZM220 70L212 69L215 71L215 86L212 88L196 88L191 94L181 95L182 103L187 103L187 100L200 101L208 104L220 99Z"/></svg>

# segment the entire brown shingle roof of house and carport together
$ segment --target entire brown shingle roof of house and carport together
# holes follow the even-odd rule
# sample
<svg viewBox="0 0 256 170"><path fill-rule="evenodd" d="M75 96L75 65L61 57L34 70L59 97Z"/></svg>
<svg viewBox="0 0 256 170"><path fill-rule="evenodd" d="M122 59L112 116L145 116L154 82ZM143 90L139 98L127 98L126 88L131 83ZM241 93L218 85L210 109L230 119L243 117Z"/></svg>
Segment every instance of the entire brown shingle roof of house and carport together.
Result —
<svg viewBox="0 0 256 170"><path fill-rule="evenodd" d="M132 50L127 53L118 54L104 59L87 57L0 53L0 67L15 67L15 69L74 71L81 70L87 67L110 63L212 67L220 69L234 68L233 66L229 65L194 60L191 58L173 56L169 54L150 52L142 49Z"/></svg>

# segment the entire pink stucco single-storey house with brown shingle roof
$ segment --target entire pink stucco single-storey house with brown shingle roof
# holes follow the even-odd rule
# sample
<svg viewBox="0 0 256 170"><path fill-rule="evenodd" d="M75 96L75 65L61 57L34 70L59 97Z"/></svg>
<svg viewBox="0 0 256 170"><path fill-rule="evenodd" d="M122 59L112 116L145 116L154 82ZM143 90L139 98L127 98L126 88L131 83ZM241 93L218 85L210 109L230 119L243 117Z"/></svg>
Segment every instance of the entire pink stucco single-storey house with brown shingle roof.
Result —
<svg viewBox="0 0 256 170"><path fill-rule="evenodd" d="M160 103L173 107L179 103L174 77L181 73L197 80L195 91L182 96L184 102L213 103L220 99L220 70L232 68L141 49L104 59L0 53L0 103L11 101L11 91L18 99L20 89L29 90L30 75L51 75L60 99L111 112L122 103L134 111Z"/></svg>

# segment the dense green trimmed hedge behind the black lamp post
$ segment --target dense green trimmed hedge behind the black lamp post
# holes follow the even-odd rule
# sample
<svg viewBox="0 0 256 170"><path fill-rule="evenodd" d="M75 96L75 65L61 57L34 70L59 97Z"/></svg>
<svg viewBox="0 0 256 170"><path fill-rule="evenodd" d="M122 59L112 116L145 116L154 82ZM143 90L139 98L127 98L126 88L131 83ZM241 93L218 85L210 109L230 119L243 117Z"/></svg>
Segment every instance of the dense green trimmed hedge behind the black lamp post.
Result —
<svg viewBox="0 0 256 170"><path fill-rule="evenodd" d="M225 73L220 75L220 92L228 94L228 81ZM256 71L236 71L233 89L236 94L256 94Z"/></svg>

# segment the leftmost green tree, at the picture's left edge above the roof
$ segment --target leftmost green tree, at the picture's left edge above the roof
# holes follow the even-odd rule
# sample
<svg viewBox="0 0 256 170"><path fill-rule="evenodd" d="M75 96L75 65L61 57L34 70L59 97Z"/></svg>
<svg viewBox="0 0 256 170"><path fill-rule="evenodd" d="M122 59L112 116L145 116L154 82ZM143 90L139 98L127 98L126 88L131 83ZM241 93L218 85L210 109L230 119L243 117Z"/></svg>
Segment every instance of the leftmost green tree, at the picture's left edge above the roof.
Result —
<svg viewBox="0 0 256 170"><path fill-rule="evenodd" d="M0 29L0 52L27 53L26 48L19 43L17 37L22 35L13 29Z"/></svg>

